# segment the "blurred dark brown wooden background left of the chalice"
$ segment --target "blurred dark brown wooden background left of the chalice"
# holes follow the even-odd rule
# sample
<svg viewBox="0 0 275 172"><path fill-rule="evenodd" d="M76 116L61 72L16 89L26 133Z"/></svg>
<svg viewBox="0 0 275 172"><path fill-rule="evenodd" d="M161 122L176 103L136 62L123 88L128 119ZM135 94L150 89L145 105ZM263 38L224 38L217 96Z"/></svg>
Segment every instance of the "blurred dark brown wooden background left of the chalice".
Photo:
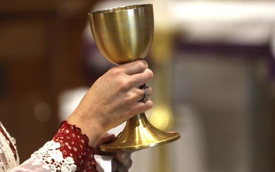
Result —
<svg viewBox="0 0 275 172"><path fill-rule="evenodd" d="M21 162L55 135L60 92L85 82L81 34L94 2L0 2L0 121Z"/></svg>

